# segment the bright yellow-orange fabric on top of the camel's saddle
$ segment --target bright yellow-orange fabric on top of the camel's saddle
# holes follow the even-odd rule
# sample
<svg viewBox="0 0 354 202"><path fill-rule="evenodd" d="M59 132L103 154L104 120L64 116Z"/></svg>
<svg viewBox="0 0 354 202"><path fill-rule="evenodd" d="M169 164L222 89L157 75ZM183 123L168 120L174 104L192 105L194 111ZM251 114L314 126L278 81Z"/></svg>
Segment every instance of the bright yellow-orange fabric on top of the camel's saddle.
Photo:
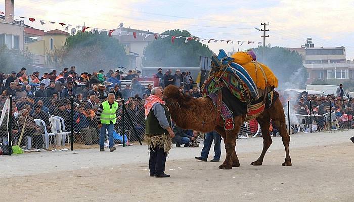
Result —
<svg viewBox="0 0 354 202"><path fill-rule="evenodd" d="M231 57L235 59L235 63L245 68L257 88L264 89L265 86L278 87L278 78L267 65L253 61L252 56L246 52L237 52ZM267 78L267 81L265 81L265 78Z"/></svg>

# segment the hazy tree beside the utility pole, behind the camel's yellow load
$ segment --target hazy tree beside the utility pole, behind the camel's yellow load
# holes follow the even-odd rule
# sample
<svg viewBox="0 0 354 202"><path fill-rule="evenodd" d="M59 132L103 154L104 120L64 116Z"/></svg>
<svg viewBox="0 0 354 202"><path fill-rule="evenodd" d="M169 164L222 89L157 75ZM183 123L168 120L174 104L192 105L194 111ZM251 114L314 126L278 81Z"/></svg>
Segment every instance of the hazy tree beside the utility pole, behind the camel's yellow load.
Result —
<svg viewBox="0 0 354 202"><path fill-rule="evenodd" d="M253 49L257 61L262 62L263 47ZM278 87L285 88L305 88L307 80L306 68L302 65L302 57L295 51L289 51L285 47L265 47L264 63L278 77Z"/></svg>

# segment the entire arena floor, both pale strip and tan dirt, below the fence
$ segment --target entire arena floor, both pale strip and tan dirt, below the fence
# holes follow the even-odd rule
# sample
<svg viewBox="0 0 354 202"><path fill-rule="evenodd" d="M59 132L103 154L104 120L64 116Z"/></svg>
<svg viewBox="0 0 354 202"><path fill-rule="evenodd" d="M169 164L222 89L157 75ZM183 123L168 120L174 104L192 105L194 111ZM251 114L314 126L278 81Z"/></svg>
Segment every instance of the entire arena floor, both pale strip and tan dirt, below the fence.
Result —
<svg viewBox="0 0 354 202"><path fill-rule="evenodd" d="M2 201L354 201L354 130L291 135L291 167L280 137L262 166L262 138L237 140L241 166L200 162L201 147L173 147L170 178L149 177L146 146L0 156ZM223 145L224 146L224 145ZM209 155L212 159L213 150ZM222 160L225 149L222 147Z"/></svg>

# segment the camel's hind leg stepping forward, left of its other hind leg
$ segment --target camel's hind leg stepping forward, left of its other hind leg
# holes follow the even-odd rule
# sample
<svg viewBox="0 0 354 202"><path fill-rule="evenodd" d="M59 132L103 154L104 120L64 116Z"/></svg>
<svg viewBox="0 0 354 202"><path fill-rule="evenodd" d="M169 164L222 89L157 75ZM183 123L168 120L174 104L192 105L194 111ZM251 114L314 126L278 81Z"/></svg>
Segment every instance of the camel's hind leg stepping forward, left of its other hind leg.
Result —
<svg viewBox="0 0 354 202"><path fill-rule="evenodd" d="M260 154L259 158L252 162L251 165L253 166L260 166L263 163L263 158L265 153L267 153L268 148L272 144L272 138L269 134L269 126L270 126L270 115L269 110L265 110L262 114L260 114L256 120L260 125L260 129L262 130L262 138L263 138L263 149L262 153Z"/></svg>

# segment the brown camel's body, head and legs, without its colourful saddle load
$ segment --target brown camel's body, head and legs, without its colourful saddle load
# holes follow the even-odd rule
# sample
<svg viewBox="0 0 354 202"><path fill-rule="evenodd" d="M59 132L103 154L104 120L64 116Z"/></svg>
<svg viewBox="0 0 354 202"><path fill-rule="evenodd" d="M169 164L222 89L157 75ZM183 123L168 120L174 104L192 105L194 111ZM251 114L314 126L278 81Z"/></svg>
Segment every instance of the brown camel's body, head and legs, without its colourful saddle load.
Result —
<svg viewBox="0 0 354 202"><path fill-rule="evenodd" d="M222 91L224 95L227 93L230 94L229 89L226 87L222 87ZM244 104L237 99L233 100L233 102L236 102L236 106L241 106L239 109L244 110L241 110L240 114L234 117L234 128L232 130L225 130L224 125L226 123L222 118L219 118L221 115L217 112L218 109L213 105L210 97L194 98L181 93L179 88L174 85L168 85L163 93L166 106L169 108L171 118L175 124L184 129L193 129L204 133L215 130L222 135L225 143L226 159L224 163L219 166L219 169L232 169L232 167L240 166L235 146L241 124L243 124L246 119L247 106L243 106ZM279 128L285 147L285 161L282 163L282 166L291 166L289 155L290 136L286 130L284 110L279 98L272 103L270 108L264 109L264 111L256 117L262 131L263 149L259 158L252 162L251 165L262 165L264 155L272 144L272 138L269 133L271 119ZM216 120L218 120L217 123Z"/></svg>

